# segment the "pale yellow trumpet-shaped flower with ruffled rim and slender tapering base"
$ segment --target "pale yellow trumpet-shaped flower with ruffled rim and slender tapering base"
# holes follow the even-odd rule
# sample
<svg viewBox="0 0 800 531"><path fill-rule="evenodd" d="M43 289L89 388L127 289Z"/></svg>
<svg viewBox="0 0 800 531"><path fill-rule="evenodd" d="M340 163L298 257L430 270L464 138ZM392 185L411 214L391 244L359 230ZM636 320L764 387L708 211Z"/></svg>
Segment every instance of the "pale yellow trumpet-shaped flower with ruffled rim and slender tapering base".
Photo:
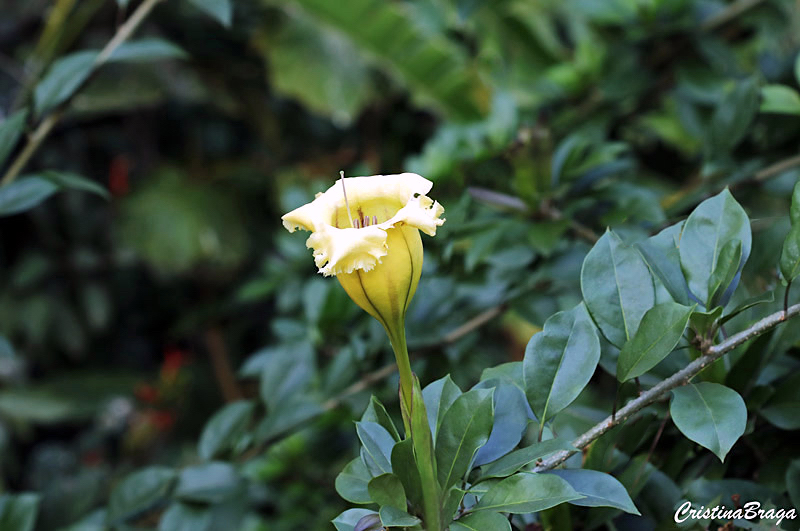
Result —
<svg viewBox="0 0 800 531"><path fill-rule="evenodd" d="M419 231L435 236L444 208L427 194L433 183L415 173L342 177L314 201L283 216L283 225L311 231L319 272L335 275L356 304L386 329L410 407L411 368L405 315L422 273Z"/></svg>

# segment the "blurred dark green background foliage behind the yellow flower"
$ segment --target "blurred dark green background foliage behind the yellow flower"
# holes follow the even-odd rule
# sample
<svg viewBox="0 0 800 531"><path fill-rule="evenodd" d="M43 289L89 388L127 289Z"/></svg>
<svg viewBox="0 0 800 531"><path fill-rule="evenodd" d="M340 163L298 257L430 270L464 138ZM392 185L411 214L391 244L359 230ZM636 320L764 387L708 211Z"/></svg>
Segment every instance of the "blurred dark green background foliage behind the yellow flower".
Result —
<svg viewBox="0 0 800 531"><path fill-rule="evenodd" d="M340 169L418 172L445 206L408 318L423 385L521 360L582 300L606 227L641 243L725 187L753 234L731 304L775 290L726 328L783 307L791 0L167 0L96 67L143 4L3 6L5 176L56 120L0 187L0 528L330 527L352 421L372 394L399 418L380 326L279 223ZM589 447L641 517L562 505L515 524L670 528L681 500L731 494L800 506L798 341L784 326L725 358L748 424L724 462L679 419L660 428L663 403ZM611 411L609 345L559 437Z"/></svg>

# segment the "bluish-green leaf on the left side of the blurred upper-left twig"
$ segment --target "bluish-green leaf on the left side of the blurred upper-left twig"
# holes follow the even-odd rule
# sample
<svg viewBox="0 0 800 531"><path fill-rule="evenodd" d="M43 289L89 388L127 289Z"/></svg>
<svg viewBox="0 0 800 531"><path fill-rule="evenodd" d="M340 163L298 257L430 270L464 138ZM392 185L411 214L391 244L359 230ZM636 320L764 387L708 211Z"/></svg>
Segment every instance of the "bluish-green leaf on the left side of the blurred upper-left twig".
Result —
<svg viewBox="0 0 800 531"><path fill-rule="evenodd" d="M98 54L95 50L85 50L65 55L55 61L34 90L36 114L41 116L72 97L89 79Z"/></svg>

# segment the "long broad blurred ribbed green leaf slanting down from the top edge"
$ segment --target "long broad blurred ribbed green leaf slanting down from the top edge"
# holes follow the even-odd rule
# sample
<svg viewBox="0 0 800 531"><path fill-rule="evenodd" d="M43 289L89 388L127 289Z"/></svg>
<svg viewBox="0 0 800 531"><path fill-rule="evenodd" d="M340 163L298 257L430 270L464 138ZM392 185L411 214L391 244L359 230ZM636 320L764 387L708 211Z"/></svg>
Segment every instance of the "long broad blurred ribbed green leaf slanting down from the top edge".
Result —
<svg viewBox="0 0 800 531"><path fill-rule="evenodd" d="M446 39L420 29L403 6L382 0L350 0L342 5L328 0L298 3L347 35L415 94L453 117L472 120L486 113L488 89L461 51Z"/></svg>

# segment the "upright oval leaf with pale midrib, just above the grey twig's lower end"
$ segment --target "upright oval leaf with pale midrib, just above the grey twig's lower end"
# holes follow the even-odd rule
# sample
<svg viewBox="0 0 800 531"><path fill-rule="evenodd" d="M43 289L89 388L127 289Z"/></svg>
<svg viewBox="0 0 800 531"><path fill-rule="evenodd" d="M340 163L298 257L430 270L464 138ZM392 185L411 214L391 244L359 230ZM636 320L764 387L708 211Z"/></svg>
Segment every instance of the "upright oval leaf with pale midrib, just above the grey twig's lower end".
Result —
<svg viewBox="0 0 800 531"><path fill-rule="evenodd" d="M599 360L600 340L583 305L558 312L544 323L523 360L526 395L540 423L578 397Z"/></svg>

